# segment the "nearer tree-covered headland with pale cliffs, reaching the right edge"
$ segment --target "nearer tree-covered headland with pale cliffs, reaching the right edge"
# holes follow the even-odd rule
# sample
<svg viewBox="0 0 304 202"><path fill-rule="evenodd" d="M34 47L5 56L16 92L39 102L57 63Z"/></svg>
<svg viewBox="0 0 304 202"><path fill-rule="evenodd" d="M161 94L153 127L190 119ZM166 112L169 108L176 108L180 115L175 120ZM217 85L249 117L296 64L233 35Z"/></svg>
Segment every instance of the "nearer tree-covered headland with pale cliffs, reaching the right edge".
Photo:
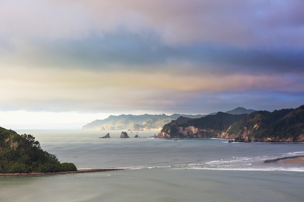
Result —
<svg viewBox="0 0 304 202"><path fill-rule="evenodd" d="M245 129L245 127L247 129ZM229 134L249 130L254 141L298 141L304 135L304 105L297 109L255 111L232 125Z"/></svg>

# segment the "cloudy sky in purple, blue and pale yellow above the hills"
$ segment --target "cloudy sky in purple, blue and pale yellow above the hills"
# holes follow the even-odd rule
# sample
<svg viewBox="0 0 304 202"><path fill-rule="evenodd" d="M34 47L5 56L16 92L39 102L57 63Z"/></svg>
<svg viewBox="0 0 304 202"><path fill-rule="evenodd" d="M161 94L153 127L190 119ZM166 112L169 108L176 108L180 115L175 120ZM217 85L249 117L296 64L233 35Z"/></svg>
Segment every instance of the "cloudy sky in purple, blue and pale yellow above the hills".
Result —
<svg viewBox="0 0 304 202"><path fill-rule="evenodd" d="M0 126L304 104L303 0L0 0Z"/></svg>

